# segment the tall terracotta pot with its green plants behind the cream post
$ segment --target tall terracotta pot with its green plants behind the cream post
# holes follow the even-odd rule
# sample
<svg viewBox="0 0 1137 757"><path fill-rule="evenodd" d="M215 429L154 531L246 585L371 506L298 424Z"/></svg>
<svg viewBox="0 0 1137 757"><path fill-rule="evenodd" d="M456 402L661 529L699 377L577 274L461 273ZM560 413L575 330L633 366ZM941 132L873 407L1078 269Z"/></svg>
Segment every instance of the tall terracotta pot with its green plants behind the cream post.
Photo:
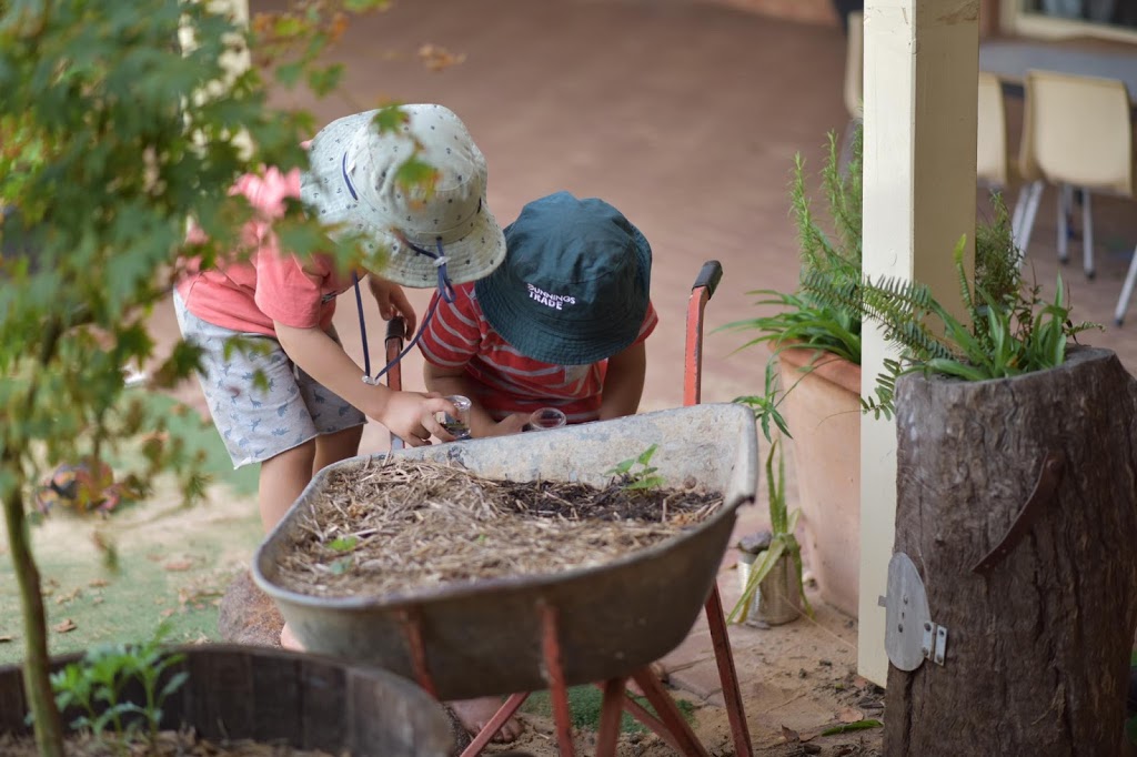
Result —
<svg viewBox="0 0 1137 757"><path fill-rule="evenodd" d="M722 330L756 335L739 349L765 346L764 388L737 401L754 408L766 438L773 427L792 441L804 550L829 605L857 615L861 534L861 330L863 311L849 298L861 283L862 133L853 134L843 170L837 135L829 134L821 169L827 231L813 211L805 164L795 157L790 210L797 227L799 288L757 290L756 305L775 308ZM993 218L977 226L976 277L988 291L1009 284L1018 257L1006 207L993 196ZM827 288L806 286L825 282Z"/></svg>

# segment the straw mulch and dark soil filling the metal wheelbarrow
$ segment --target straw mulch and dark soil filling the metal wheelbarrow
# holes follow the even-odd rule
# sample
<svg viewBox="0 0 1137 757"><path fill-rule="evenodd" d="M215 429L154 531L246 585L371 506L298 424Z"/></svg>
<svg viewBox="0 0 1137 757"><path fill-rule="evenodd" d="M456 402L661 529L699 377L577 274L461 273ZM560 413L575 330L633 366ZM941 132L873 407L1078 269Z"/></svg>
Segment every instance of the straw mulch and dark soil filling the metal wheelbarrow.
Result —
<svg viewBox="0 0 1137 757"><path fill-rule="evenodd" d="M723 501L637 481L498 481L400 457L333 472L293 526L277 580L304 594L355 597L556 574L665 541Z"/></svg>

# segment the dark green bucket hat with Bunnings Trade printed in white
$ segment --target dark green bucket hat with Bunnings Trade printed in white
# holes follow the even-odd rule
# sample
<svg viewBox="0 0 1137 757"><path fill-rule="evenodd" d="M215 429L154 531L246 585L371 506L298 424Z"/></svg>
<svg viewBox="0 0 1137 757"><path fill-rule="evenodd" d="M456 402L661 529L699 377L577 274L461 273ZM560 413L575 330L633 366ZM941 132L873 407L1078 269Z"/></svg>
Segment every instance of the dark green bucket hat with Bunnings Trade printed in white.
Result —
<svg viewBox="0 0 1137 757"><path fill-rule="evenodd" d="M587 365L636 341L647 315L652 247L604 200L557 192L506 226L506 257L474 283L485 319L518 352Z"/></svg>

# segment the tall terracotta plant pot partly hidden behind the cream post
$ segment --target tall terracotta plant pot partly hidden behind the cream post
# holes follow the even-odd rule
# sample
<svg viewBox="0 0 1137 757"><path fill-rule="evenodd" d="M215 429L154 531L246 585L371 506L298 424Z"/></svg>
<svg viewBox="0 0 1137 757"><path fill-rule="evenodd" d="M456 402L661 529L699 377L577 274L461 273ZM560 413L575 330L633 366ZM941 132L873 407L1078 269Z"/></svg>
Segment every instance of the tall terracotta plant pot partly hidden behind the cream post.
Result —
<svg viewBox="0 0 1137 757"><path fill-rule="evenodd" d="M857 616L861 572L861 366L829 352L778 356L794 435L803 551L821 598ZM811 367L812 365L812 367Z"/></svg>

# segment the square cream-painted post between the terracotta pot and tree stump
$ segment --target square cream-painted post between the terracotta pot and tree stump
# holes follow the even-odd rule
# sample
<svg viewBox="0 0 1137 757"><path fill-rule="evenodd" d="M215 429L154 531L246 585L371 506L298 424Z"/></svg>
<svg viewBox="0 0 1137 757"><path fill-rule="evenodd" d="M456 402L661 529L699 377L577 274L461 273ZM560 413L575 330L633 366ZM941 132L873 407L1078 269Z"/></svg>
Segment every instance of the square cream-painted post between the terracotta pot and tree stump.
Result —
<svg viewBox="0 0 1137 757"><path fill-rule="evenodd" d="M962 311L952 251L974 257L979 0L868 0L864 10L865 275L915 277ZM969 273L970 275L970 273ZM865 327L862 393L888 347ZM861 599L857 668L883 684L888 560L896 531L896 426L861 423ZM918 556L911 556L919 564Z"/></svg>

